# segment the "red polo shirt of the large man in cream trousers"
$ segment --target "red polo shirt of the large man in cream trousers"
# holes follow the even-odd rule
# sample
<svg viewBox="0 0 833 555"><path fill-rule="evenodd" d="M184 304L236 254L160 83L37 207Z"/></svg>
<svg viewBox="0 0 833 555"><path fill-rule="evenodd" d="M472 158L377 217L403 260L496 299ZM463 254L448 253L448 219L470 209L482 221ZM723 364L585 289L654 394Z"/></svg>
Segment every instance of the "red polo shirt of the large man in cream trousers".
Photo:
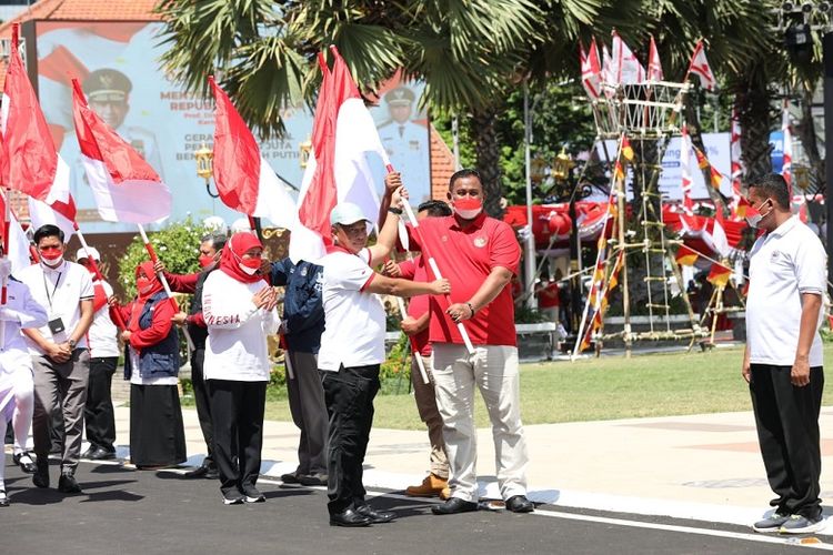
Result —
<svg viewBox="0 0 833 555"><path fill-rule="evenodd" d="M521 246L512 228L505 222L481 213L468 228L460 226L456 216L426 218L420 222L425 251L434 258L443 278L451 282L451 302L465 303L476 293L495 268L518 273ZM422 250L419 238L409 226L412 250ZM428 262L428 261L425 261ZM428 264L426 264L428 265ZM433 272L428 272L433 279ZM448 302L442 296L431 296L431 343L463 343L456 324L445 314ZM510 287L463 322L471 342L475 345L518 344L514 305Z"/></svg>

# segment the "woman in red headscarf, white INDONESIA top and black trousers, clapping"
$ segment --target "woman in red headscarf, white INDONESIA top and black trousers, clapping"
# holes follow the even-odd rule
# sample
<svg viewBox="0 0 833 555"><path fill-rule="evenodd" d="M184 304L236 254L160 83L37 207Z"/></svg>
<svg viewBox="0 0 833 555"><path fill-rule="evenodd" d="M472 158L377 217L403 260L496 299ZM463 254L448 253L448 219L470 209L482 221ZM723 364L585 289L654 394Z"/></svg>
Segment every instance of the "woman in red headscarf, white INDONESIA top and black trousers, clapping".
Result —
<svg viewBox="0 0 833 555"><path fill-rule="evenodd" d="M235 233L222 251L220 271L211 272L202 289L209 332L203 374L211 398L214 461L227 505L265 501L254 485L272 370L267 335L278 331L280 319L274 290L260 274L262 252L253 234Z"/></svg>

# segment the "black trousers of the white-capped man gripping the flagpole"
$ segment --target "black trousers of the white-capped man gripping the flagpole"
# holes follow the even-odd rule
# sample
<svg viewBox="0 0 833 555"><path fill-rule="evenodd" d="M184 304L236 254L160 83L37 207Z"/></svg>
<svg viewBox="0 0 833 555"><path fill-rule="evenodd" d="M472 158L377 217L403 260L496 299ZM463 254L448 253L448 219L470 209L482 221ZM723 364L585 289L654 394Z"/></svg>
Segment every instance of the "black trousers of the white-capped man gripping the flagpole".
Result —
<svg viewBox="0 0 833 555"><path fill-rule="evenodd" d="M327 507L333 515L365 504L362 464L379 393L379 364L319 372L330 416Z"/></svg>

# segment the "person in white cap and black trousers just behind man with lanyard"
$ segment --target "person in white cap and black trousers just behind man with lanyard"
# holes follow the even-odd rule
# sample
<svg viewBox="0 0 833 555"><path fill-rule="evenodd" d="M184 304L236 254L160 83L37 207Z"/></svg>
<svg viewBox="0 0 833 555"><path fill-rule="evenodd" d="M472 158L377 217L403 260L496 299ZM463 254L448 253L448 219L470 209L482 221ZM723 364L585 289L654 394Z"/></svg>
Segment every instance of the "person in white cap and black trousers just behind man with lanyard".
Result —
<svg viewBox="0 0 833 555"><path fill-rule="evenodd" d="M92 297L92 324L87 332L90 347L90 379L87 382L87 404L84 405L84 428L89 448L81 455L92 461L116 458L116 414L113 413L112 380L119 363L119 331L110 319L107 302L113 289L106 281L98 280L90 258L101 261L99 251L79 249L76 262L90 272L94 295Z"/></svg>

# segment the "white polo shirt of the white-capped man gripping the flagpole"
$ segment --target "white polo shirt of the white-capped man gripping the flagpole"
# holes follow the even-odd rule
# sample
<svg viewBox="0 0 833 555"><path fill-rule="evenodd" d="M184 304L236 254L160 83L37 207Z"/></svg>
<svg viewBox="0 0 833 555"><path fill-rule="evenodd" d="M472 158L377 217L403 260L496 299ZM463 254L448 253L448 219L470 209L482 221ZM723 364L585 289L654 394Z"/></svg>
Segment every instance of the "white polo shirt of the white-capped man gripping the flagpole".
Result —
<svg viewBox="0 0 833 555"><path fill-rule="evenodd" d="M338 372L345 367L384 362L385 316L382 301L364 291L375 273L370 251L358 254L332 250L317 262L323 266L324 333L318 367Z"/></svg>

